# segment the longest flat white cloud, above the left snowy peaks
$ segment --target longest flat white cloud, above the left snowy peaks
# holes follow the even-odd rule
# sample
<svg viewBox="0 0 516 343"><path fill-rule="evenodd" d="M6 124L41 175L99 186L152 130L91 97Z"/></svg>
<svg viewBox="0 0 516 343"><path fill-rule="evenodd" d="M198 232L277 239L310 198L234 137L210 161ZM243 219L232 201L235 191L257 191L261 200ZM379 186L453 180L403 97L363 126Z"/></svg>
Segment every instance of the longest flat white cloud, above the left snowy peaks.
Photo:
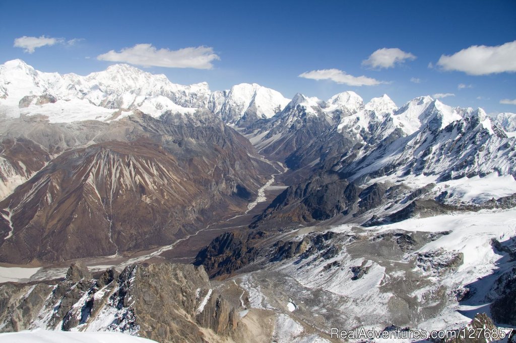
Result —
<svg viewBox="0 0 516 343"><path fill-rule="evenodd" d="M123 48L119 53L111 50L97 56L98 60L126 62L141 66L162 66L168 68L211 69L212 61L220 60L207 46L187 47L179 50L156 49L152 44L136 44Z"/></svg>

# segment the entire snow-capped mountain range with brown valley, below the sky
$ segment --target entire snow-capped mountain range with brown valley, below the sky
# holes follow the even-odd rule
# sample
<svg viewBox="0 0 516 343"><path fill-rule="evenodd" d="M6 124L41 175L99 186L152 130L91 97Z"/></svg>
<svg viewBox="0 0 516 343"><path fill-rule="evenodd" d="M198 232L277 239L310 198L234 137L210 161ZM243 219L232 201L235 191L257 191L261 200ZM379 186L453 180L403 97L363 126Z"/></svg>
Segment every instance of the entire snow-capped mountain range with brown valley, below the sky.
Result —
<svg viewBox="0 0 516 343"><path fill-rule="evenodd" d="M31 305L21 295L34 288L0 286L18 299L0 305L0 331L97 325L157 339L146 278L194 269L133 263L174 251L206 271L195 269L198 293L211 295L209 276L231 303L210 300L217 320L204 318L197 286L181 284L178 320L197 328L193 340L251 339L266 320L279 341L325 341L328 325L456 330L482 306L516 325L504 307L516 294L516 114L430 96L401 107L352 91L287 99L255 83L212 92L125 64L79 76L13 60L0 65L0 117L0 262L53 277L78 260L124 270L106 271L110 286L69 275L60 298L38 283ZM117 307L133 317L100 323L133 270L139 303ZM12 319L31 306L44 320Z"/></svg>

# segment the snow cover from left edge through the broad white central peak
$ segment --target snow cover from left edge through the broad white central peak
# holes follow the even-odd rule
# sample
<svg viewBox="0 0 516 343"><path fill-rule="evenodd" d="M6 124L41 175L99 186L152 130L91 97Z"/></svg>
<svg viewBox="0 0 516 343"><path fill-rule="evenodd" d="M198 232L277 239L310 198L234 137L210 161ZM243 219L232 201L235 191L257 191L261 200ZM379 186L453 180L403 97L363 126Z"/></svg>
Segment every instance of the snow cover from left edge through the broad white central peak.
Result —
<svg viewBox="0 0 516 343"><path fill-rule="evenodd" d="M20 100L28 107L19 108ZM36 105L38 97L52 99ZM55 103L52 103L55 102ZM153 117L170 111L192 115L199 108L224 117L234 113L235 122L253 109L259 117L270 118L289 102L281 93L259 84L241 83L231 90L211 92L206 82L174 84L163 74L151 74L127 64L115 64L87 76L59 75L35 70L22 60L0 65L0 114L8 117L42 114L50 122L106 121L117 111L140 110Z"/></svg>

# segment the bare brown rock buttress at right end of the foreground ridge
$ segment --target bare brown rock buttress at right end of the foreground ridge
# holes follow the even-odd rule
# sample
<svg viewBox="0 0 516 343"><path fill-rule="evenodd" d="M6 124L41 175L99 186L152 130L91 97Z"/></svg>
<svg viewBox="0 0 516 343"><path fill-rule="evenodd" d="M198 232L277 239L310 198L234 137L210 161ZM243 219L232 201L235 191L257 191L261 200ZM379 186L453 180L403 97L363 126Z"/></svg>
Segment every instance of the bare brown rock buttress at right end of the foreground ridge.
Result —
<svg viewBox="0 0 516 343"><path fill-rule="evenodd" d="M237 317L234 310L213 293L202 268L151 265L138 268L132 274L134 286L125 298L134 301L140 336L154 340L173 341L173 337L184 337L187 341L201 341L196 337L201 336L197 325L221 336L228 336L235 330ZM186 312L182 317L178 316L178 307Z"/></svg>

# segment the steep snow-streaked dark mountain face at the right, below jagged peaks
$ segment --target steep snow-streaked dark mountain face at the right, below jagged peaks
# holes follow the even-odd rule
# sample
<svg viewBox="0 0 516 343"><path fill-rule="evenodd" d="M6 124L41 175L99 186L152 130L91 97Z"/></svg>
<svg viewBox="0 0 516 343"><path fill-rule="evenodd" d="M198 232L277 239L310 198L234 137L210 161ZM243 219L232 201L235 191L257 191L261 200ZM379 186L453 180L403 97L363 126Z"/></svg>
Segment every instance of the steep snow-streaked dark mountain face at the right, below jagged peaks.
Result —
<svg viewBox="0 0 516 343"><path fill-rule="evenodd" d="M481 109L453 121L456 113L450 118L437 107L426 114L426 122L412 134L383 141L363 158L342 160L335 168L352 179L424 174L449 180L492 171L516 173L514 138L508 138Z"/></svg>

